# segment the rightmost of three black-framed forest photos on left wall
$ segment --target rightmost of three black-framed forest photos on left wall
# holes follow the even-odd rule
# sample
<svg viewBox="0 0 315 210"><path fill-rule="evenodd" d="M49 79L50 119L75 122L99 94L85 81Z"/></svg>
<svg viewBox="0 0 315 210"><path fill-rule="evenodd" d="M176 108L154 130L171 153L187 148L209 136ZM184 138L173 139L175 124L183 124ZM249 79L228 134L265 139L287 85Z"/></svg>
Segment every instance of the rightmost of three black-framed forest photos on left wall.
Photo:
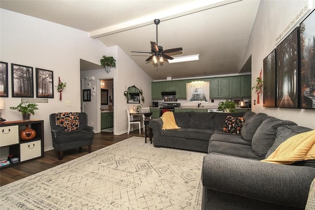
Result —
<svg viewBox="0 0 315 210"><path fill-rule="evenodd" d="M54 74L53 71L35 68L36 72L36 97L54 98Z"/></svg>

